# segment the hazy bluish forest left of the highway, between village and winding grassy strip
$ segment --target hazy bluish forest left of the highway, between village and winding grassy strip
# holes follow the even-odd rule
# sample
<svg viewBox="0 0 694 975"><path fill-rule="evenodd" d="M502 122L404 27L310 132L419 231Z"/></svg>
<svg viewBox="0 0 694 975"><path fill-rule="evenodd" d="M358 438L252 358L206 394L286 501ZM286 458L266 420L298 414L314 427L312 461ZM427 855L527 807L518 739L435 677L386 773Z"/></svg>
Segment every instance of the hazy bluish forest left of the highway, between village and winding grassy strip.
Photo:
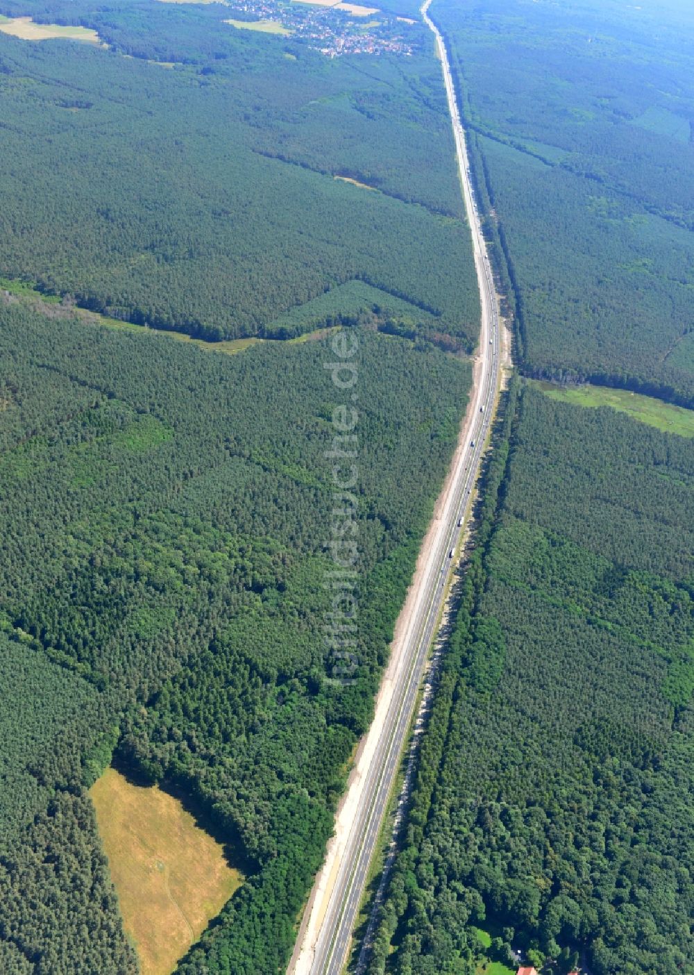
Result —
<svg viewBox="0 0 694 975"><path fill-rule="evenodd" d="M477 286L429 50L366 69L230 30L216 5L69 9L0 3L110 45L0 34L2 277L212 339L311 331L324 297L324 322L358 314L357 285L382 324L472 349Z"/></svg>

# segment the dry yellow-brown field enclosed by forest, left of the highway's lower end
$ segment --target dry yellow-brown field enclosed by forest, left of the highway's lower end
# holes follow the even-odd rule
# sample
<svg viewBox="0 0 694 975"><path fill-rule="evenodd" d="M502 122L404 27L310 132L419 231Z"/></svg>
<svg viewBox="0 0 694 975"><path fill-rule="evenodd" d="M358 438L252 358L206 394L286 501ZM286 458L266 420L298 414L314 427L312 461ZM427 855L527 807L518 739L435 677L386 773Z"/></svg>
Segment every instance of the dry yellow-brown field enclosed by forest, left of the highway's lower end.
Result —
<svg viewBox="0 0 694 975"><path fill-rule="evenodd" d="M108 768L90 795L142 975L170 975L243 876L178 800Z"/></svg>

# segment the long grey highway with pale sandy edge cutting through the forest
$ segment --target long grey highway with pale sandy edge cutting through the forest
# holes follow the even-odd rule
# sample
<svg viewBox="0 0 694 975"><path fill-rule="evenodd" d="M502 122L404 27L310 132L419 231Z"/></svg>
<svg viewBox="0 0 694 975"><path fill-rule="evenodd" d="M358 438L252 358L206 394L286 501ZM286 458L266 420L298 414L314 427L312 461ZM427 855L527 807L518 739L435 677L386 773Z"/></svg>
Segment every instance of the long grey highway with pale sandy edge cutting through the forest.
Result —
<svg viewBox="0 0 694 975"><path fill-rule="evenodd" d="M304 943L298 946L300 951L295 953L289 965L291 975L340 975L346 963L368 866L400 766L429 649L441 617L448 578L455 562L454 554L464 530L468 502L478 478L502 367L498 303L470 181L465 134L455 101L443 37L428 14L430 3L431 0L426 0L421 13L427 26L434 32L442 60L443 81L480 285L482 327L478 353L480 363L471 396L474 413L467 447L459 457L456 456L451 472L452 489L439 514L442 524L431 549L431 558L415 594L417 602L412 622L405 633L404 666L396 677L390 706L366 771L362 797L344 854L335 866L331 882L323 894L318 934L311 937L312 943L306 943L309 939L305 937ZM301 937L300 934L299 940Z"/></svg>

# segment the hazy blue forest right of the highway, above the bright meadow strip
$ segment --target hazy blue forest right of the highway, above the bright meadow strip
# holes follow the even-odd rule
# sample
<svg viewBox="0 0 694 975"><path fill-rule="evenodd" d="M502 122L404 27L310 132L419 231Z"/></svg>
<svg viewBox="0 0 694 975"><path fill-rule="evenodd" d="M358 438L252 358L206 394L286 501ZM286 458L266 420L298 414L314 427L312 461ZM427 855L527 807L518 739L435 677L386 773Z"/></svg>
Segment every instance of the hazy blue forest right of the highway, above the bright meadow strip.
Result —
<svg viewBox="0 0 694 975"><path fill-rule="evenodd" d="M658 10L435 5L521 369L694 404L694 23Z"/></svg>

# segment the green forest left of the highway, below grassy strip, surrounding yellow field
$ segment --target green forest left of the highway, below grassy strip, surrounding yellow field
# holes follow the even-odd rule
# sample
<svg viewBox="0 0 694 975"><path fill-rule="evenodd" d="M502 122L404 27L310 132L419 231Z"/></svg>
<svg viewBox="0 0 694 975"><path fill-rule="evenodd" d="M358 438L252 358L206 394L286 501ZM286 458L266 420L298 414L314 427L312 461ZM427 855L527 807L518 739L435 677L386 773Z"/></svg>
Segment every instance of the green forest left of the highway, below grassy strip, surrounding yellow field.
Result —
<svg viewBox="0 0 694 975"><path fill-rule="evenodd" d="M323 633L333 337L227 356L0 298L3 971L134 970L85 798L114 750L247 873L180 970L286 961L470 382L431 344L351 334L347 685Z"/></svg>

